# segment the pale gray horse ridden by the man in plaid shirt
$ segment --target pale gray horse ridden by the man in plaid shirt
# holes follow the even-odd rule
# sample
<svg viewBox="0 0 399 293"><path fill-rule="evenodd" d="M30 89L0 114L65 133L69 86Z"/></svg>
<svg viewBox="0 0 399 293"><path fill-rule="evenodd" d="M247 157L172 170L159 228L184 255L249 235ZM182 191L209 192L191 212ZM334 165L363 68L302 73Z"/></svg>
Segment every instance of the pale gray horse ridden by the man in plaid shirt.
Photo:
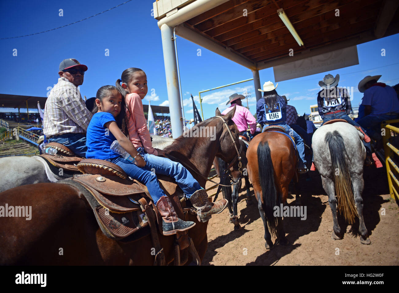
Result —
<svg viewBox="0 0 399 293"><path fill-rule="evenodd" d="M154 135L152 139L153 147L160 149L173 143L173 139L168 137ZM58 169L54 169L50 168L47 161L41 156L9 156L0 158L0 192L17 186L56 182L66 177L71 177L59 176L59 172L54 173ZM64 174L67 174L67 172Z"/></svg>

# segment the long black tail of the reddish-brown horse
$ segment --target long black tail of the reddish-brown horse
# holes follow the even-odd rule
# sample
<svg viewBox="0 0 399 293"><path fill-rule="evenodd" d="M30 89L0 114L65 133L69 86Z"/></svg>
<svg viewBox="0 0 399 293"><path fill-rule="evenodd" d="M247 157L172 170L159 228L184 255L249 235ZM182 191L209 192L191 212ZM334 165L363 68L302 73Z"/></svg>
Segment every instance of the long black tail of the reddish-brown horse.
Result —
<svg viewBox="0 0 399 293"><path fill-rule="evenodd" d="M262 188L263 210L269 225L271 234L277 234L277 217L274 217L273 210L277 205L277 191L274 179L273 162L270 155L269 143L261 142L258 145L258 166L259 166L259 183Z"/></svg>

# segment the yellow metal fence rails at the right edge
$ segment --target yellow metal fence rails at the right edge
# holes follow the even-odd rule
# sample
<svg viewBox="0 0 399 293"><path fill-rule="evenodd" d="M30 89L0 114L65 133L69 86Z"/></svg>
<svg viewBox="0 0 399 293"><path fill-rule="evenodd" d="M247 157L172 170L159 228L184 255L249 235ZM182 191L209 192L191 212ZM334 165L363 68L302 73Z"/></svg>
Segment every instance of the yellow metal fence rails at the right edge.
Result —
<svg viewBox="0 0 399 293"><path fill-rule="evenodd" d="M388 186L389 193L391 197L396 201L399 201L399 180L397 179L396 174L399 174L398 164L395 162L395 155L399 156L399 149L394 147L391 144L391 133L396 137L399 135L399 128L392 126L392 123L398 123L399 119L387 120L381 123L381 130L385 130L385 135L382 135L383 145L384 145L384 156L385 156L385 168L387 168L387 178L388 178ZM395 171L395 172L394 172ZM395 183L395 184L394 184ZM396 187L395 187L396 186Z"/></svg>

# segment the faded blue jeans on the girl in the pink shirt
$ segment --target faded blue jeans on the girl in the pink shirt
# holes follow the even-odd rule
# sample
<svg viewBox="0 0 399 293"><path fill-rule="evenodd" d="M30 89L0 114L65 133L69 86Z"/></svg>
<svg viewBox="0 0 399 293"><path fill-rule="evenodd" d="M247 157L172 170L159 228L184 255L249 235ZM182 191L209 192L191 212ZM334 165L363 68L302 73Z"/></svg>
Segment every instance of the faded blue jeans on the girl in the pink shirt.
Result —
<svg viewBox="0 0 399 293"><path fill-rule="evenodd" d="M194 192L202 189L197 180L194 179L191 173L188 172L182 164L168 158L147 154L142 147L137 148L137 151L147 163L143 167L144 169L151 172L153 171L155 174L162 174L174 178L177 185L186 194L186 197L190 198Z"/></svg>

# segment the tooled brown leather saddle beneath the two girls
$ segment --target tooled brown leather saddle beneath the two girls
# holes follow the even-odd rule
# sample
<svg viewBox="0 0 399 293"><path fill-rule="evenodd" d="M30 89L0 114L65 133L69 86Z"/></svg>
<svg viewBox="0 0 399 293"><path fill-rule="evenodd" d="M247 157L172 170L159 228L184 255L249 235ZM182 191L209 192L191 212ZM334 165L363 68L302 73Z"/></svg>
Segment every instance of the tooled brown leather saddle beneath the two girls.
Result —
<svg viewBox="0 0 399 293"><path fill-rule="evenodd" d="M77 164L83 174L59 183L70 184L82 191L89 202L103 233L114 240L128 240L132 234L139 238L144 227L150 227L150 234L156 249L154 265L164 265L165 256L158 238L162 234L162 217L152 202L147 188L131 180L116 164L105 160L83 159ZM180 219L185 212L177 195L169 195ZM158 230L157 230L158 229ZM200 264L194 244L186 232L177 232L174 264L183 265L188 260L188 252Z"/></svg>

